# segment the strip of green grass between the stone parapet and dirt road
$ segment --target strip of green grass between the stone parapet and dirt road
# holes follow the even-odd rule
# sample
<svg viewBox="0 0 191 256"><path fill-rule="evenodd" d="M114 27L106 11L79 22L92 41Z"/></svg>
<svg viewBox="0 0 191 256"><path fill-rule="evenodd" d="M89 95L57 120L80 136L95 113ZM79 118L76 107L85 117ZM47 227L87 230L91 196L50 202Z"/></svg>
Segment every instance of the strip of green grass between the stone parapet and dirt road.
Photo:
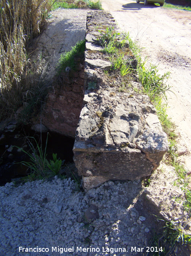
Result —
<svg viewBox="0 0 191 256"><path fill-rule="evenodd" d="M185 192L185 201L183 206L189 215L191 215L191 190L188 186L189 177L187 176L185 168L177 161L178 155L176 153L176 139L178 138L178 135L175 133L175 124L168 118L166 111L167 104L164 103L164 100L167 101L165 93L170 91L170 87L165 83L170 73L167 72L163 74L163 76L160 76L158 74L157 66L153 66L152 64L150 64L149 68L145 69L144 63L141 61L140 51L138 51L136 44L134 44L129 37L128 40L129 47L131 47L134 55L139 60L139 81L142 83L144 90L148 94L152 104L155 106L163 131L168 136L169 150L165 156L165 162L175 167L176 174L178 175L178 180L175 185L181 185L181 189Z"/></svg>

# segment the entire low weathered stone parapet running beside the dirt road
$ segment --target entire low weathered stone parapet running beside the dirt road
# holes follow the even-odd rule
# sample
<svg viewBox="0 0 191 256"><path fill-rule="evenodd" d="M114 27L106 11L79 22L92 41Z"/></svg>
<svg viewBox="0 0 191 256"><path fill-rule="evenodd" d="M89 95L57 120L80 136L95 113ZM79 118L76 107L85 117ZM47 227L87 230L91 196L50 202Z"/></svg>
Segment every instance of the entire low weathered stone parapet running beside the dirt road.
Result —
<svg viewBox="0 0 191 256"><path fill-rule="evenodd" d="M136 74L109 72L109 56L100 52L99 30L117 29L112 16L103 11L87 15L85 96L80 114L74 162L86 189L107 180L136 180L157 168L168 149L155 108L138 91ZM124 58L136 68L126 42ZM122 88L122 89L121 89ZM125 88L125 89L124 89Z"/></svg>

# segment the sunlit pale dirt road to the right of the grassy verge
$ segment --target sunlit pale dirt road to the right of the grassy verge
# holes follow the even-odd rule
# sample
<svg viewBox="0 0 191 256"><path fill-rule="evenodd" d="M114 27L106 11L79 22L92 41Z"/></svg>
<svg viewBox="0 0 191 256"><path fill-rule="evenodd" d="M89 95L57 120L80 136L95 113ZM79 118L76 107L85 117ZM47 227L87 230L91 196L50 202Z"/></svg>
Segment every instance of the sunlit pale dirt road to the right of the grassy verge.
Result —
<svg viewBox="0 0 191 256"><path fill-rule="evenodd" d="M102 0L102 7L115 18L122 31L130 33L142 48L143 59L170 71L168 116L181 135L179 152L191 150L191 12L132 0ZM182 157L191 171L191 155Z"/></svg>

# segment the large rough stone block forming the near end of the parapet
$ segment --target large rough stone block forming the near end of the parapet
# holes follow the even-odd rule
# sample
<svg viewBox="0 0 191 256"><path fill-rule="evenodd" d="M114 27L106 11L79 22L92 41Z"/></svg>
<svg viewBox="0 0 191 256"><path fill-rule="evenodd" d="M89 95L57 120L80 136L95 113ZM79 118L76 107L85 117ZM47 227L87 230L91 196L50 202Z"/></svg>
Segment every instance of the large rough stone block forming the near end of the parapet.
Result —
<svg viewBox="0 0 191 256"><path fill-rule="evenodd" d="M75 165L84 177L84 188L88 189L90 184L97 186L93 182L97 178L92 177L138 180L148 176L168 150L167 136L160 123L152 122L158 120L156 114L145 112L145 108L153 111L150 103L142 104L145 95L133 99L124 93L123 103L119 104L121 94L112 98L110 91L101 94L103 97L94 94L93 104L86 100L73 148ZM112 104L113 107L108 107Z"/></svg>

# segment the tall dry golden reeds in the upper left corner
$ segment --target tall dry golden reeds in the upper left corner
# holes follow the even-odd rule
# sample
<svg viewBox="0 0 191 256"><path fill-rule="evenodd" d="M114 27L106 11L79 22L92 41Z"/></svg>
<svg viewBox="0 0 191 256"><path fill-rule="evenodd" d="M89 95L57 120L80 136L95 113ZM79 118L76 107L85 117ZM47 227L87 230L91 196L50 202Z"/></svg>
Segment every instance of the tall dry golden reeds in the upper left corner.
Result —
<svg viewBox="0 0 191 256"><path fill-rule="evenodd" d="M0 119L31 97L26 45L42 30L50 0L1 0L0 2ZM33 88L32 88L33 87Z"/></svg>

